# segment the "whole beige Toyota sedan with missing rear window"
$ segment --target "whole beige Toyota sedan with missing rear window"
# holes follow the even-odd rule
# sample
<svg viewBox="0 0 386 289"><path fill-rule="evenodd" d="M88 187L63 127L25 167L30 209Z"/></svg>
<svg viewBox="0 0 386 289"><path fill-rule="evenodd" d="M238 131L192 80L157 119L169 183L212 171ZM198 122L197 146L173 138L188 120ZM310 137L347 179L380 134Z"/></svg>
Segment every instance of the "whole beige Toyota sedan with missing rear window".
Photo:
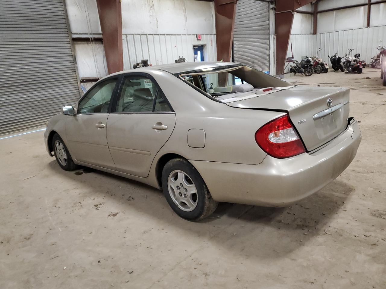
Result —
<svg viewBox="0 0 386 289"><path fill-rule="evenodd" d="M179 216L218 202L283 207L347 168L361 142L349 89L295 86L231 62L111 74L52 117L59 166L88 166L162 188Z"/></svg>

